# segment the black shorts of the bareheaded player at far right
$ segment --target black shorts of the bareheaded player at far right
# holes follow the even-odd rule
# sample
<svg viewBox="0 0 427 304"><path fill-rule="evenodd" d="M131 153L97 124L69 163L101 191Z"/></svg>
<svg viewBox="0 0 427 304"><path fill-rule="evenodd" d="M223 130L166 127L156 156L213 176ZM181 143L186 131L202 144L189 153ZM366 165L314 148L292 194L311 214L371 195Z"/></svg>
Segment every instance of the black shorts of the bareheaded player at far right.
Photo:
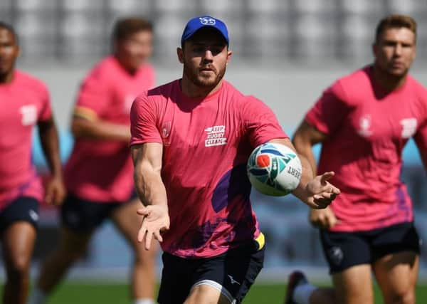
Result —
<svg viewBox="0 0 427 304"><path fill-rule="evenodd" d="M355 232L331 232L320 229L323 253L330 273L402 251L420 252L420 239L413 223L396 224L381 229Z"/></svg>

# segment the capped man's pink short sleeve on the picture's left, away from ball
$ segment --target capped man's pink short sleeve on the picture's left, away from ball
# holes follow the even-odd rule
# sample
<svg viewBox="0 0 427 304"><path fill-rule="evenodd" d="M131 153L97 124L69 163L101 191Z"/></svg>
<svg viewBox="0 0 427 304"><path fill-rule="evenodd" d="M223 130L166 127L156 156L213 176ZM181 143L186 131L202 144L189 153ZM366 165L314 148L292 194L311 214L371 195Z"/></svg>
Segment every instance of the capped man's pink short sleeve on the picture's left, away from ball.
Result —
<svg viewBox="0 0 427 304"><path fill-rule="evenodd" d="M147 97L147 92L139 95L130 110L130 145L146 142L162 143L162 136L157 128L157 110L154 100Z"/></svg>

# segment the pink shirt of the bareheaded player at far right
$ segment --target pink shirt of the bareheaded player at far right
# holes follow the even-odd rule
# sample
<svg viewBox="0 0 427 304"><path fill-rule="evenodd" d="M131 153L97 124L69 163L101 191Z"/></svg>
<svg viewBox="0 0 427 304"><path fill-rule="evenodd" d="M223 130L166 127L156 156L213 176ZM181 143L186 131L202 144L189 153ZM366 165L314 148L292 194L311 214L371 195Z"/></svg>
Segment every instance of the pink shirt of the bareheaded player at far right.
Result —
<svg viewBox="0 0 427 304"><path fill-rule="evenodd" d="M340 224L332 231L367 231L413 221L412 202L399 179L402 150L413 137L427 147L427 90L410 75L386 93L372 67L325 90L305 119L329 135L319 172L334 171L341 189L330 205Z"/></svg>

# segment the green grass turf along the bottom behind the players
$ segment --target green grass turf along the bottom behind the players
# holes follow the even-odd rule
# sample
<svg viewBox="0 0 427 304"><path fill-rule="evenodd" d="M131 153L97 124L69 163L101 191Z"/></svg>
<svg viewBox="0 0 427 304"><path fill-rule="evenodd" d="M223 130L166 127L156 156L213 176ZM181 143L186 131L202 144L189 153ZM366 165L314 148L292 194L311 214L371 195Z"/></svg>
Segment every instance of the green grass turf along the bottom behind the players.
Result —
<svg viewBox="0 0 427 304"><path fill-rule="evenodd" d="M283 304L285 285L258 283L251 288L244 304ZM416 303L427 303L427 285L418 285ZM64 283L48 304L130 304L128 286L108 283ZM383 303L375 288L375 303Z"/></svg>

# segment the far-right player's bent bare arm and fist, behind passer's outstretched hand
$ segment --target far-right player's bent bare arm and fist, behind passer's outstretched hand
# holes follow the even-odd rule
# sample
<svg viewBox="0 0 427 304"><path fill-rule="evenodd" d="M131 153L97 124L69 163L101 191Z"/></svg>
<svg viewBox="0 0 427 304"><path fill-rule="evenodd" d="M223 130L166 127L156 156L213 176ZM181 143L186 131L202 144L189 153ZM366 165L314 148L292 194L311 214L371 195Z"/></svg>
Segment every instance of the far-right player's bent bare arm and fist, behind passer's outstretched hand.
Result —
<svg viewBox="0 0 427 304"><path fill-rule="evenodd" d="M312 146L319 142L324 142L326 139L327 135L325 133L322 133L315 127L312 127L312 125L305 120L301 122L292 139L298 154L304 156L308 162L310 162L314 174L317 172L317 165L315 155L312 151ZM337 217L329 206L325 209L310 209L309 220L313 226L318 226L323 229L330 229L339 223Z"/></svg>

